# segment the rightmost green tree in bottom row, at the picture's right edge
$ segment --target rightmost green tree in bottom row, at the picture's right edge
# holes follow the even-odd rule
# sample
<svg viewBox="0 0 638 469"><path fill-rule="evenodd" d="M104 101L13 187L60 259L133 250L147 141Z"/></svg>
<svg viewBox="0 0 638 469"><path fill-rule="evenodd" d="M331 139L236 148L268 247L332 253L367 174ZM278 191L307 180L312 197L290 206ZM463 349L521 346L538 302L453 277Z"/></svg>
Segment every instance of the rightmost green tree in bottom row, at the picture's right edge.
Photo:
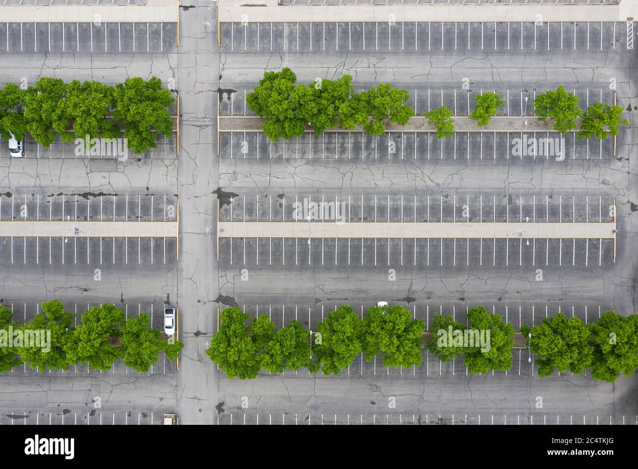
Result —
<svg viewBox="0 0 638 469"><path fill-rule="evenodd" d="M588 327L595 346L592 378L611 383L620 373L632 376L638 368L638 315L625 317L606 311Z"/></svg>

